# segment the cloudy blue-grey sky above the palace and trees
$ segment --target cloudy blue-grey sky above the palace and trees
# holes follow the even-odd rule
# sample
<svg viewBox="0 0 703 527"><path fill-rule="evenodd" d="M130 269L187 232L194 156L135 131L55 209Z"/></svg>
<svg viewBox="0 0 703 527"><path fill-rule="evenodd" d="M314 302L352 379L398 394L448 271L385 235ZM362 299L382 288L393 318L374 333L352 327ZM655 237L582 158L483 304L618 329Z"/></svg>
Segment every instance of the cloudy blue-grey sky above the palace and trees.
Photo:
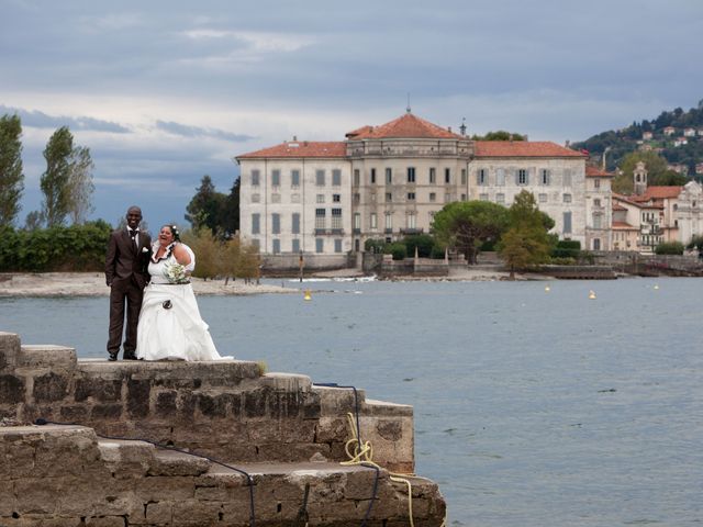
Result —
<svg viewBox="0 0 703 527"><path fill-rule="evenodd" d="M188 227L204 175L293 136L415 115L469 134L591 135L703 99L700 0L0 0L0 115L23 125L18 226L59 126L94 161L91 218Z"/></svg>

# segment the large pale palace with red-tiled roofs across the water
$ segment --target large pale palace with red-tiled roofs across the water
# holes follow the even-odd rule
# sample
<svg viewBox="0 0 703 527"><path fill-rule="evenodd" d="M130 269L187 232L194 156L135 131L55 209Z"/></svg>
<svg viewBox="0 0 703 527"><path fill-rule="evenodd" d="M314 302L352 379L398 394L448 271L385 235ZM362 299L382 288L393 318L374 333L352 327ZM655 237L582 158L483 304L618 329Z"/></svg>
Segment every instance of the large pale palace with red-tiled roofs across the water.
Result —
<svg viewBox="0 0 703 527"><path fill-rule="evenodd" d="M346 256L368 238L428 233L448 202L510 206L528 190L560 238L609 249L611 177L587 183L585 159L548 142L471 141L409 111L346 141L293 139L237 156L241 235L264 255Z"/></svg>

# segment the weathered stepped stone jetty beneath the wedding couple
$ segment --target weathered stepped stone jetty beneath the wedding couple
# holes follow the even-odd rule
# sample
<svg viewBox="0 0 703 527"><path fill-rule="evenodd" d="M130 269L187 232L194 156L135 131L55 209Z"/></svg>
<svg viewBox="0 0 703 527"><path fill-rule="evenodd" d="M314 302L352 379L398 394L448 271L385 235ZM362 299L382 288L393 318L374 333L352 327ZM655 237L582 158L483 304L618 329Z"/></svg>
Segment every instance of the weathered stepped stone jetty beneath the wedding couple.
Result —
<svg viewBox="0 0 703 527"><path fill-rule="evenodd" d="M358 415L377 469L347 461ZM77 360L0 333L0 525L439 526L412 407L248 361ZM46 423L35 425L36 421ZM164 448L166 447L166 448ZM412 509L412 513L411 513Z"/></svg>

